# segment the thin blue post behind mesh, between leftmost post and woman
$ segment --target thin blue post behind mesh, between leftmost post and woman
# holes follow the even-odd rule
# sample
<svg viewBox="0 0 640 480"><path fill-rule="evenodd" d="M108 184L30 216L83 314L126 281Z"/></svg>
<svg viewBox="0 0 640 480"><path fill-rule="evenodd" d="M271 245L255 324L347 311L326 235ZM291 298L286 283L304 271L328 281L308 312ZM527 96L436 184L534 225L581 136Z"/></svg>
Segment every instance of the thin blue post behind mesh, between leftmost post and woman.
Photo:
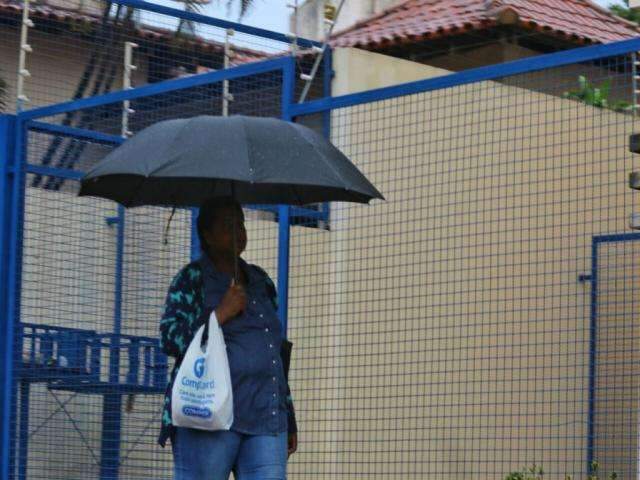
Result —
<svg viewBox="0 0 640 480"><path fill-rule="evenodd" d="M122 333L122 279L124 269L124 207L118 205L115 222L116 269L115 294L113 302L113 336L109 354L109 383L119 383L120 370L120 334ZM107 393L102 399L102 437L100 447L100 478L116 480L120 464L120 437L122 422L122 395L119 392Z"/></svg>

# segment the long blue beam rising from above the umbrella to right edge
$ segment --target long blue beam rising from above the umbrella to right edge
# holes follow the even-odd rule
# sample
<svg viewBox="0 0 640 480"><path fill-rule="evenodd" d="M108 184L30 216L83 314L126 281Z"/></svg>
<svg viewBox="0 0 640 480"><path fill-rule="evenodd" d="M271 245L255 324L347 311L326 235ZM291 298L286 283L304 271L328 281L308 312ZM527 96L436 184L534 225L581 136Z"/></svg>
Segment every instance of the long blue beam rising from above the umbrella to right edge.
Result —
<svg viewBox="0 0 640 480"><path fill-rule="evenodd" d="M415 93L441 90L444 88L457 87L459 85L466 85L486 80L495 80L512 75L546 70L548 68L588 62L607 57L615 57L637 51L640 51L640 38L523 58L513 62L473 68L463 72L453 73L451 75L428 78L426 80L417 80L414 82L403 83L391 87L377 88L374 90L367 90L365 92L352 93L339 97L329 97L321 100L299 103L291 105L289 109L293 116L310 115L312 113L324 112L336 108L352 107L354 105L377 102L380 100L387 100Z"/></svg>

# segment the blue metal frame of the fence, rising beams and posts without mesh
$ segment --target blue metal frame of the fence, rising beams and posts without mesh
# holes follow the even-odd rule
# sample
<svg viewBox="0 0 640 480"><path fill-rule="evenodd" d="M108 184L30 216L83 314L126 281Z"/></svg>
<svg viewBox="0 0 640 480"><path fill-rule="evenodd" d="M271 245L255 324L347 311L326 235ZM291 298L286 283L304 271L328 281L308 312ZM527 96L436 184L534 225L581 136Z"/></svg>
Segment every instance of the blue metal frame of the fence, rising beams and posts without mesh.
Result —
<svg viewBox="0 0 640 480"><path fill-rule="evenodd" d="M145 2L139 2L138 0L123 0L120 3L130 6L136 6L137 4L143 4ZM144 5L150 11L158 11L159 6ZM153 8L151 8L153 7ZM142 7L140 7L142 8ZM166 7L162 7L164 9ZM173 10L173 9L170 9ZM160 12L159 13L164 13ZM193 14L197 15L197 14ZM200 21L196 18L194 20ZM249 33L249 32L247 32ZM108 103L122 102L124 100L133 100L145 96L157 95L170 91L176 91L183 88L194 87L197 85L205 85L208 83L222 81L224 79L234 79L243 76L250 76L253 74L264 73L268 71L281 70L284 73L283 82L283 104L282 104L282 117L285 119L293 119L297 116L309 115L313 113L329 114L332 110L338 108L344 108L364 103L376 102L380 100L397 98L405 95L411 95L415 93L424 93L433 90L452 88L459 85L470 84L474 82L498 79L505 76L517 75L523 73L529 73L534 71L540 71L544 69L561 67L569 64L590 62L598 59L613 57L619 55L625 55L633 52L640 51L640 39L626 40L622 42L611 43L607 45L597 45L592 47L586 47L581 49L569 50L559 52L551 55L543 55L539 57L527 58L525 60L518 60L501 65L494 65L489 67L481 67L465 72L454 73L451 75L445 75L438 78L420 80L416 82L409 82L402 85L393 87L380 88L370 90L366 92L344 95L340 97L329 97L322 100L309 101L303 104L293 103L293 81L295 80L295 63L294 59L290 57L279 58L274 60L267 60L264 62L242 65L234 67L229 70L217 71L206 73L202 75L194 75L178 80L170 80L166 82L160 82L144 87L136 88L128 91L114 92L98 97L87 98L77 100L73 102L66 102L59 105L52 105L43 108L37 108L27 110L20 113L15 118L8 118L6 116L0 117L0 135L11 136L9 132L13 131L14 141L11 144L5 142L4 145L0 144L0 182L7 188L3 189L4 196L0 196L0 207L9 205L8 209L0 209L0 219L5 219L5 225L7 228L2 230L1 238L2 242L7 246L8 253L4 257L4 262L1 272L4 275L0 275L0 285L4 283L6 285L5 297L0 300L0 305L5 305L2 313L4 314L4 321L2 323L2 329L6 332L4 342L0 345L0 353L3 354L5 363L3 365L4 371L2 372L3 386L5 387L2 392L2 441L0 442L0 479L6 480L9 478L9 460L11 458L11 438L12 432L9 431L9 425L11 424L10 413L15 406L11 406L10 402L12 398L15 398L13 392L15 392L15 385L12 379L13 365L13 331L14 322L19 318L20 313L20 273L21 273L21 250L22 250L22 217L24 210L24 198L21 195L22 187L24 185L24 178L27 172L41 173L41 174L55 174L58 176L65 176L65 178L78 178L78 172L63 171L57 168L48 168L36 165L26 165L24 162L24 147L25 147L25 134L28 128L41 129L42 131L56 132L57 134L67 134L70 136L78 136L81 138L94 139L104 141L108 143L109 138L104 137L102 134L96 134L95 132L79 131L78 129L72 129L63 126L53 126L49 124L43 124L41 122L35 122L36 119L65 113L68 111L74 111L83 108L92 108ZM330 75L328 73L327 75ZM329 77L328 77L329 78ZM330 78L329 78L330 80ZM327 81L329 81L327 80ZM328 122L325 118L324 122ZM328 123L324 123L325 128L328 131ZM0 137L1 139L2 137ZM4 213L2 213L4 212ZM287 306L287 291L288 291L288 251L289 251L289 225L287 217L290 216L290 210L287 208L281 209L279 207L278 212L280 214L280 228L279 238L281 244L279 246L279 259L286 259L286 265L281 264L279 261L278 268L278 290L279 300L281 304L280 318L283 321L283 325L286 326L286 306ZM1 226L1 225L0 225ZM285 228L286 227L286 228ZM594 405L594 386L593 380L595 379L595 343L596 343L596 313L597 313L597 298L594 295L597 293L597 253L598 245L606 241L627 241L632 239L640 239L640 234L628 234L628 235L611 235L594 237L592 260L595 262L592 272L592 306L591 306L591 339L590 339L590 386L589 386L589 448L588 457L589 461L593 458L593 405Z"/></svg>

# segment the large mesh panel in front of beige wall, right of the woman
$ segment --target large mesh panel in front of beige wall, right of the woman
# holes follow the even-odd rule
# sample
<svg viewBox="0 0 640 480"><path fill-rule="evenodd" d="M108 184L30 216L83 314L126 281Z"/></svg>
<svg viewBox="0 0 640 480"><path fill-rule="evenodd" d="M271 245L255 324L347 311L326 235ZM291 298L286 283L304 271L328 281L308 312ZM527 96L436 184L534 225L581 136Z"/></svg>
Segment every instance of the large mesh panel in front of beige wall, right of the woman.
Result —
<svg viewBox="0 0 640 480"><path fill-rule="evenodd" d="M635 121L626 104L564 93L586 75L628 102L630 71L610 58L332 111L332 141L387 202L332 204L329 231L294 228L294 478L496 479L534 463L586 478L591 295L578 278L594 235L627 230ZM633 350L635 318L616 318L626 327L606 341ZM633 478L625 392L597 389L593 440L607 447L592 453Z"/></svg>

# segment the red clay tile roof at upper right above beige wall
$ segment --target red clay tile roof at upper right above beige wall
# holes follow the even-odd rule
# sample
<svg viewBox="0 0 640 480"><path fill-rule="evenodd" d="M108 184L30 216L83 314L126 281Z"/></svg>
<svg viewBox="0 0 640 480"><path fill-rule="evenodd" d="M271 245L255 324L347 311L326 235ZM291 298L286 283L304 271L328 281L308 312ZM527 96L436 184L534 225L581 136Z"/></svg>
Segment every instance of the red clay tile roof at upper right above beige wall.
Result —
<svg viewBox="0 0 640 480"><path fill-rule="evenodd" d="M589 0L407 0L334 35L337 47L377 48L481 30L509 18L576 43L640 35L637 25Z"/></svg>

